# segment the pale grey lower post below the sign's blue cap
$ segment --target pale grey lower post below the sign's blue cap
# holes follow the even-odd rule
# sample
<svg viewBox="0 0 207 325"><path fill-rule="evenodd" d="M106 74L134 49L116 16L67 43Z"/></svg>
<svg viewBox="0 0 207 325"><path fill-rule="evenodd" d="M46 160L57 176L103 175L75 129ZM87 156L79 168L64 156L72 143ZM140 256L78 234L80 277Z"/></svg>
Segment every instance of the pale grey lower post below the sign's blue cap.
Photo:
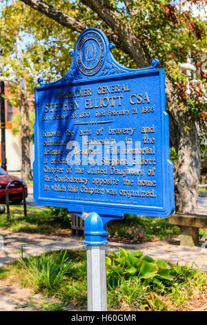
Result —
<svg viewBox="0 0 207 325"><path fill-rule="evenodd" d="M88 311L106 311L105 245L87 245Z"/></svg>

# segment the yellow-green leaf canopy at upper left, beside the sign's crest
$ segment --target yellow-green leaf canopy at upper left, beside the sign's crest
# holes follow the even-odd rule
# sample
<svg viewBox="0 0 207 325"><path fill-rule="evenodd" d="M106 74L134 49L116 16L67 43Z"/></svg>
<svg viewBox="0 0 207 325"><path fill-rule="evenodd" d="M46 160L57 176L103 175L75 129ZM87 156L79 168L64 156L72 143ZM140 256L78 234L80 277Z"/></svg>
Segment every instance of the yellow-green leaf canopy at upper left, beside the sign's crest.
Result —
<svg viewBox="0 0 207 325"><path fill-rule="evenodd" d="M0 46L3 48L3 75L17 82L23 78L28 91L34 93L40 75L45 82L50 82L68 71L65 63L70 65L68 52L70 39L74 36L38 12L31 15L30 8L23 6L21 1L2 2ZM23 48L22 66L16 53L17 36ZM12 84L11 87L15 100L19 87Z"/></svg>

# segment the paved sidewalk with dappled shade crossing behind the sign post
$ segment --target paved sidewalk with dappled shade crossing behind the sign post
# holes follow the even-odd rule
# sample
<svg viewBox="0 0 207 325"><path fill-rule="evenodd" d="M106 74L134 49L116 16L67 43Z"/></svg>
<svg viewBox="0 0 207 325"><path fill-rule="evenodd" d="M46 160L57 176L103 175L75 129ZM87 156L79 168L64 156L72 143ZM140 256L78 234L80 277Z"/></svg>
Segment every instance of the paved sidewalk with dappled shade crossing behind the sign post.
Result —
<svg viewBox="0 0 207 325"><path fill-rule="evenodd" d="M43 234L26 234L23 232L12 233L1 230L3 236L3 251L0 252L0 267L6 266L13 259L20 256L23 248L23 256L37 255L50 250L86 249L83 239L76 236L47 236ZM207 271L207 245L206 248L195 246L187 248L179 245L178 238L166 239L141 244L124 244L110 242L106 245L106 253L118 251L119 247L126 250L141 250L153 259L164 259L172 263L179 261L196 264L197 267Z"/></svg>

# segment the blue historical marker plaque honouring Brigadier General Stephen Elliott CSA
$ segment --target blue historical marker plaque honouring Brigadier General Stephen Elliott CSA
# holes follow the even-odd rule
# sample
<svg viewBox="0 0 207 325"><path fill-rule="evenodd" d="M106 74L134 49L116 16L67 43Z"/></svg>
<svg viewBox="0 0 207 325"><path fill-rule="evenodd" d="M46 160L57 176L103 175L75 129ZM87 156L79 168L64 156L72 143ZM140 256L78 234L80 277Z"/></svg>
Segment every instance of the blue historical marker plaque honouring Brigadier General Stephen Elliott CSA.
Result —
<svg viewBox="0 0 207 325"><path fill-rule="evenodd" d="M61 80L35 89L34 200L71 212L168 216L174 210L164 69L131 70L89 28Z"/></svg>

